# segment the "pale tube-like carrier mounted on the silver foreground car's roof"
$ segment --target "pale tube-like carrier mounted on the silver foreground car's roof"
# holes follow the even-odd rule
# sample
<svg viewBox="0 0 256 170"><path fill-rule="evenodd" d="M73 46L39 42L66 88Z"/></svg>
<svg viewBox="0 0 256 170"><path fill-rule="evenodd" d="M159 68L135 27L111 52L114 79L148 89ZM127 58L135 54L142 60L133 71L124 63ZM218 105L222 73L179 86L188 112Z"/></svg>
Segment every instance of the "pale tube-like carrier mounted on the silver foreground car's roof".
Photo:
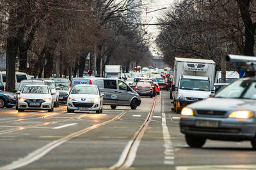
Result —
<svg viewBox="0 0 256 170"><path fill-rule="evenodd" d="M256 57L245 56L245 55L232 55L228 54L226 57L227 61L236 62L236 70L244 70L245 74L243 77L255 76L256 73Z"/></svg>

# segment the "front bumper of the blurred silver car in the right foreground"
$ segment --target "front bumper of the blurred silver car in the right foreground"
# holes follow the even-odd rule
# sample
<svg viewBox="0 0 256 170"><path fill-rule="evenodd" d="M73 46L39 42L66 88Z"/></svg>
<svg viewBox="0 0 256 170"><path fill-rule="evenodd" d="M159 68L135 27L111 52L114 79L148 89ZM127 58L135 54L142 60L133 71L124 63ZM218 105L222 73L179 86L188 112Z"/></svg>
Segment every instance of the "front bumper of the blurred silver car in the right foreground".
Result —
<svg viewBox="0 0 256 170"><path fill-rule="evenodd" d="M218 127L202 127L196 121L218 122ZM184 134L200 136L206 139L227 141L250 140L255 137L255 118L238 120L235 118L182 117L180 131Z"/></svg>

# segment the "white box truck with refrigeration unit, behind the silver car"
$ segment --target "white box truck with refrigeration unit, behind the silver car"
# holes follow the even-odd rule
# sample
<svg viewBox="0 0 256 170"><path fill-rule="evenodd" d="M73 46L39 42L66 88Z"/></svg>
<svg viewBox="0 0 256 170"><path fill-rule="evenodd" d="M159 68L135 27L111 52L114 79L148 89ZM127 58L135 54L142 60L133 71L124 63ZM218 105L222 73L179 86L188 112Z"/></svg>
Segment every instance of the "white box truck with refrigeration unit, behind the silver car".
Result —
<svg viewBox="0 0 256 170"><path fill-rule="evenodd" d="M172 81L173 110L206 99L213 90L215 62L175 57Z"/></svg>

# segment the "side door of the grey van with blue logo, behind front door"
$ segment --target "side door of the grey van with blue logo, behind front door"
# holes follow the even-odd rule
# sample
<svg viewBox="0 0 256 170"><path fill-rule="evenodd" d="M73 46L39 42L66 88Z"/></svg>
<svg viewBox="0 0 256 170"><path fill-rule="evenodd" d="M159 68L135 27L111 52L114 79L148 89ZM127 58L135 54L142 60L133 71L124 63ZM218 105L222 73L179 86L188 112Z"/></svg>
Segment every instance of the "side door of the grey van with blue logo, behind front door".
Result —
<svg viewBox="0 0 256 170"><path fill-rule="evenodd" d="M100 92L104 94L103 104L118 105L118 89L116 80L103 80L104 88L100 88Z"/></svg>

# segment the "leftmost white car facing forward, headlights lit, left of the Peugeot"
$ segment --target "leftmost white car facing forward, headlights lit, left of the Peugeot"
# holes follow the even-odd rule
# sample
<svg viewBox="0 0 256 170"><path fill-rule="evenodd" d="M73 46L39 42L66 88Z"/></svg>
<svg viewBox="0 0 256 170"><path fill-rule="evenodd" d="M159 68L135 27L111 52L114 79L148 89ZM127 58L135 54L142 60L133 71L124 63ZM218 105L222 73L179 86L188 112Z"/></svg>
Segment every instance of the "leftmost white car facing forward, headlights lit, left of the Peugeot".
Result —
<svg viewBox="0 0 256 170"><path fill-rule="evenodd" d="M19 94L18 111L53 111L53 98L48 85L25 85Z"/></svg>

